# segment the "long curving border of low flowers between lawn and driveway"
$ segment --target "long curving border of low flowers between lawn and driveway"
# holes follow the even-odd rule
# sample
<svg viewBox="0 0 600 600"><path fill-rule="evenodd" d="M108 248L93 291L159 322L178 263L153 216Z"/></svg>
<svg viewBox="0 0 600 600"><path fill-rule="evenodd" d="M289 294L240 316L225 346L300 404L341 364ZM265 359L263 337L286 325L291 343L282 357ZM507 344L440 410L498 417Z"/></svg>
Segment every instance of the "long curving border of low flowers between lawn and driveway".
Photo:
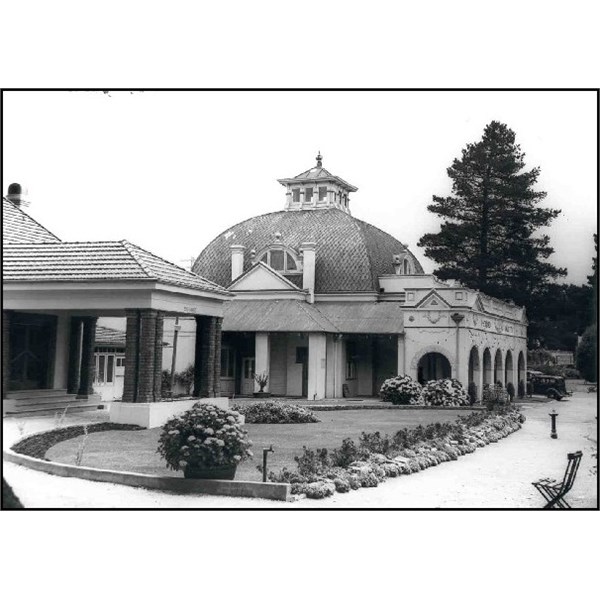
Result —
<svg viewBox="0 0 600 600"><path fill-rule="evenodd" d="M268 479L290 483L293 494L314 499L376 487L388 477L410 475L497 442L520 429L524 421L517 409L510 408L401 429L393 436L363 432L358 444L346 438L333 451L304 447L303 454L295 457L295 471L284 468L279 473L270 472Z"/></svg>

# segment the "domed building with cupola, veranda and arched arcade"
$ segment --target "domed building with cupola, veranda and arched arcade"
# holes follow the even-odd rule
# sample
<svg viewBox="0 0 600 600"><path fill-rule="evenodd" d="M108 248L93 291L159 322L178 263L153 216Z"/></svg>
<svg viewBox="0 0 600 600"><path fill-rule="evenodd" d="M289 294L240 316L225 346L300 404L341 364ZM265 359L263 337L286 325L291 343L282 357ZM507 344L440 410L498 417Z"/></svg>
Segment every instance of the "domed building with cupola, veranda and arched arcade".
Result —
<svg viewBox="0 0 600 600"><path fill-rule="evenodd" d="M315 167L279 179L281 211L217 236L193 271L233 292L225 303L220 393L377 395L388 377L524 379L522 308L424 273L405 244L354 218L357 188ZM218 358L217 358L218 360ZM217 370L217 369L215 369Z"/></svg>

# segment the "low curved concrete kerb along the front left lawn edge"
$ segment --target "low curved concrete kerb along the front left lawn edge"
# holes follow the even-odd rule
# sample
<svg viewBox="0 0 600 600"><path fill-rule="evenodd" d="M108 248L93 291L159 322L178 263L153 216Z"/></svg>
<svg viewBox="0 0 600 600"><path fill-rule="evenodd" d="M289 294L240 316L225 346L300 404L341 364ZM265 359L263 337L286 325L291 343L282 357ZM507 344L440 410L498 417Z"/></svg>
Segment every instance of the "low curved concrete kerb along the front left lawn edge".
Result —
<svg viewBox="0 0 600 600"><path fill-rule="evenodd" d="M265 500L291 501L291 486L288 483L262 483L259 481L226 481L221 479L184 479L178 477L157 477L126 471L109 471L93 467L77 467L55 463L12 450L4 450L3 459L50 475L77 477L89 481L116 483L131 487L143 487L185 494L205 494L210 496L237 496L242 498L263 498Z"/></svg>

